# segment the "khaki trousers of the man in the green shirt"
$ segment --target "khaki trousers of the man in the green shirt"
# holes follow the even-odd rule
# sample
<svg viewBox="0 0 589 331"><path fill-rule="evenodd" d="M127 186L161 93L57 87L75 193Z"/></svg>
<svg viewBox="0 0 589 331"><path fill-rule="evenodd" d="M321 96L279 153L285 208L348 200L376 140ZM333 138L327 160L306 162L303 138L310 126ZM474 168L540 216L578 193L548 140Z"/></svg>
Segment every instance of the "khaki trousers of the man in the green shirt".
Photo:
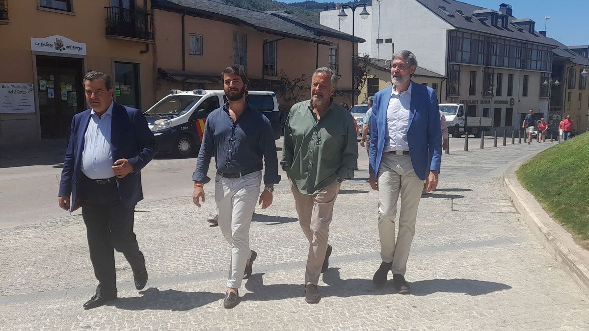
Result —
<svg viewBox="0 0 589 331"><path fill-rule="evenodd" d="M327 251L327 237L329 237L329 223L333 217L333 204L335 204L340 186L341 184L334 180L333 183L316 194L309 195L300 193L290 181L290 190L293 191L300 227L309 240L305 286L308 284L317 285L319 282L319 275Z"/></svg>

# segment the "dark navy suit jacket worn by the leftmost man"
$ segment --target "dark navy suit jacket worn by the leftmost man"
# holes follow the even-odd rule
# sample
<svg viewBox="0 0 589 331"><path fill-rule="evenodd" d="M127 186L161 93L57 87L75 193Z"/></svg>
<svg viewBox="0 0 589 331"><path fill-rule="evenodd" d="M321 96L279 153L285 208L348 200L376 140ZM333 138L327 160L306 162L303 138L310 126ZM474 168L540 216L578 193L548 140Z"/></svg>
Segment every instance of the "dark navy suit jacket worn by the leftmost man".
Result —
<svg viewBox="0 0 589 331"><path fill-rule="evenodd" d="M91 110L85 110L72 118L70 142L65 152L64 168L61 171L59 197L71 194L71 211L78 202L78 188L82 176L82 151L84 150L84 134L90 122ZM159 150L157 141L147 120L140 110L115 103L112 107L111 124L112 158L129 160L133 173L117 178L118 193L125 207L134 207L143 199L141 189L141 169L153 159Z"/></svg>

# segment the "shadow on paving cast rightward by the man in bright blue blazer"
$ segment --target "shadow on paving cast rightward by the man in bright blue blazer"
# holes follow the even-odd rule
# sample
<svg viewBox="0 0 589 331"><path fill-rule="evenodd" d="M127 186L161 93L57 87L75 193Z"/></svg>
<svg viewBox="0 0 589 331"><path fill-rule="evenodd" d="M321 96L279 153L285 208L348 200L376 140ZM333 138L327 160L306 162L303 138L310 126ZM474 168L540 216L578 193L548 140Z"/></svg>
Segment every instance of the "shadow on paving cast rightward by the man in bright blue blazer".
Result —
<svg viewBox="0 0 589 331"><path fill-rule="evenodd" d="M411 291L416 296L426 296L436 292L464 293L469 296L479 296L492 292L511 289L502 283L485 282L474 279L432 279L419 280L411 284Z"/></svg>

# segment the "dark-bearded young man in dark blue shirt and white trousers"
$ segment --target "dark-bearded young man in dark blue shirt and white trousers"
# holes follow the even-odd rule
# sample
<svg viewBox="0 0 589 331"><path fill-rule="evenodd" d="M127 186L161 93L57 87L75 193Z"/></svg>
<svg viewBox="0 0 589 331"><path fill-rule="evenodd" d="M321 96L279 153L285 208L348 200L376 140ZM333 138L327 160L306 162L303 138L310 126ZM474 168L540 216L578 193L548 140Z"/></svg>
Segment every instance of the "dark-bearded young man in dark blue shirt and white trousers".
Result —
<svg viewBox="0 0 589 331"><path fill-rule="evenodd" d="M274 184L279 183L276 143L270 121L246 102L247 76L239 67L227 67L221 72L227 103L212 111L204 126L203 141L193 174L193 201L204 203L204 184L211 157L215 156L215 201L217 221L223 236L231 245L231 270L223 306L233 308L238 303L241 280L252 274L256 251L250 250L250 224L256 201L265 209L272 204ZM260 194L262 157L266 172L266 187ZM260 194L259 200L257 199Z"/></svg>

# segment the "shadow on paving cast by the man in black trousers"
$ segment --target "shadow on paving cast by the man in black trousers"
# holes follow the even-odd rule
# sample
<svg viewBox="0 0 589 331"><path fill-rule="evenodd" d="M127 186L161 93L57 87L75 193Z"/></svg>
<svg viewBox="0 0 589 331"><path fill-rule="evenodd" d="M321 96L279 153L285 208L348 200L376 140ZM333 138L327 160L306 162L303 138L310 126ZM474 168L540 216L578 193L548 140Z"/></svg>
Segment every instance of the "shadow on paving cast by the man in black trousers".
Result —
<svg viewBox="0 0 589 331"><path fill-rule="evenodd" d="M120 297L115 302L108 304L124 310L170 310L172 312L185 312L202 307L211 302L223 299L223 293L210 292L183 292L177 290L160 291L150 287L139 292L140 297Z"/></svg>

